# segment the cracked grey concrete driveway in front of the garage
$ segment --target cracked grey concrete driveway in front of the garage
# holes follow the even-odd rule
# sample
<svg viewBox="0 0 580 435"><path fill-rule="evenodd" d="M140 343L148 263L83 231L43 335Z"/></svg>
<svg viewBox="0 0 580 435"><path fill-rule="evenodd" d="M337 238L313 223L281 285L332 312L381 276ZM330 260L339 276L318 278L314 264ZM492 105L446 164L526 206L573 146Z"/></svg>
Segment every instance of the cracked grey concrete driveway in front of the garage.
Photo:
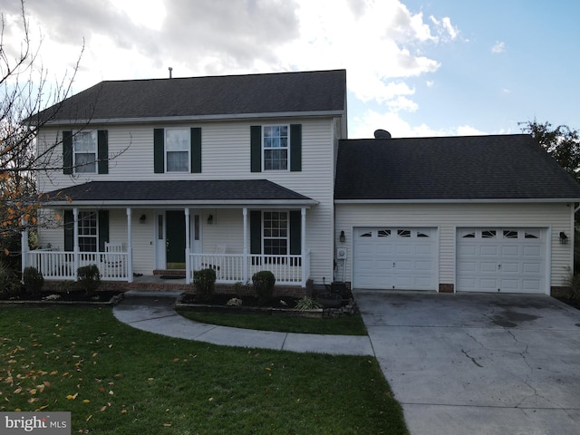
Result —
<svg viewBox="0 0 580 435"><path fill-rule="evenodd" d="M580 311L545 295L354 295L411 434L580 433Z"/></svg>

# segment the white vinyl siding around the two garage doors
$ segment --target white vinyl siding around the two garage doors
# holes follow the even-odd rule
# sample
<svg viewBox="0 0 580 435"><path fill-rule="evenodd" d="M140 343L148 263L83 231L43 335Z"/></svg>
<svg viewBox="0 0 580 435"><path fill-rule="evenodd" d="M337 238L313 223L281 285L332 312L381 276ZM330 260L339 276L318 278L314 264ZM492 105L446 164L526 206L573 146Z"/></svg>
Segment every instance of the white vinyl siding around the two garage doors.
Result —
<svg viewBox="0 0 580 435"><path fill-rule="evenodd" d="M439 282L455 284L456 233L460 227L546 228L551 286L565 285L573 266L573 244L562 245L560 231L574 234L574 205L565 203L498 204L337 204L334 239L353 253L353 227L437 227L439 229ZM344 231L346 242L338 242ZM346 261L346 278L352 279L352 256ZM543 289L549 293L548 289Z"/></svg>

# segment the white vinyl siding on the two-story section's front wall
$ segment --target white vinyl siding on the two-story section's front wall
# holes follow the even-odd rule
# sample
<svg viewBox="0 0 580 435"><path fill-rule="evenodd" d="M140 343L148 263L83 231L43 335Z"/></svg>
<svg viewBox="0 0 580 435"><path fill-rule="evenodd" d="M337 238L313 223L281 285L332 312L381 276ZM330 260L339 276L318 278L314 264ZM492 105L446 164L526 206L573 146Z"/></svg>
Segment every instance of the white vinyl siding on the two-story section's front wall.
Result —
<svg viewBox="0 0 580 435"><path fill-rule="evenodd" d="M302 124L302 170L299 172L284 171L250 171L250 126L251 125L289 125ZM311 276L314 282L321 283L333 279L333 156L336 139L340 135L340 122L333 118L316 119L255 119L251 121L208 121L179 122L171 124L133 124L93 126L108 130L108 146L111 160L109 174L79 174L77 179L63 175L62 171L52 174L52 179L39 175L38 189L50 191L63 189L73 184L90 180L140 180L140 179L269 179L286 189L292 189L318 202L318 205L306 210L306 250L311 251ZM153 172L153 129L154 128L189 128L201 129L202 173L154 173ZM60 140L56 129L44 129L39 136L39 147L43 143L51 144ZM60 150L60 149L59 149ZM59 154L58 152L56 154ZM60 153L62 160L62 153ZM61 162L62 164L62 162ZM288 209L285 207L285 209ZM153 256L154 227L152 210L145 210L148 219L146 224L139 223L142 210L133 210L133 257L135 272L150 273L154 261L147 257L149 250ZM225 240L228 253L242 252L242 209L228 210L225 216L232 216L224 222L221 209L211 213L217 216L217 225L207 225L208 209L203 211L204 251L214 252L215 240L222 231L233 233L232 241ZM139 214L139 216L137 216ZM122 217L120 215L123 215ZM126 215L123 209L117 217L121 228L126 231ZM229 219L229 218L227 218ZM230 226L231 225L231 229ZM150 227L151 226L151 227ZM110 227L112 238L112 227ZM217 238L211 238L211 237ZM62 236L61 236L62 237ZM41 236L43 238L43 235ZM139 240L139 241L138 241ZM138 244L140 249L137 248ZM61 243L63 245L63 243ZM230 249L231 246L231 249ZM208 249L208 251L207 251ZM144 267L145 270L138 270Z"/></svg>

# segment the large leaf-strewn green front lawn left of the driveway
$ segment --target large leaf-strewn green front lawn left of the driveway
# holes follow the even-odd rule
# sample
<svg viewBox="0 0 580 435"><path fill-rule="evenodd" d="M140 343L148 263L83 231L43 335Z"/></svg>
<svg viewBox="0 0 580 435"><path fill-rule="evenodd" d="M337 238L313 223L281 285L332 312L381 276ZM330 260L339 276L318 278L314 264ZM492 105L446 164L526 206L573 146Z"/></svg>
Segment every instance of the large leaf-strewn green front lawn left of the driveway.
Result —
<svg viewBox="0 0 580 435"><path fill-rule="evenodd" d="M71 433L407 433L371 357L173 339L111 308L0 310L0 411L71 411Z"/></svg>

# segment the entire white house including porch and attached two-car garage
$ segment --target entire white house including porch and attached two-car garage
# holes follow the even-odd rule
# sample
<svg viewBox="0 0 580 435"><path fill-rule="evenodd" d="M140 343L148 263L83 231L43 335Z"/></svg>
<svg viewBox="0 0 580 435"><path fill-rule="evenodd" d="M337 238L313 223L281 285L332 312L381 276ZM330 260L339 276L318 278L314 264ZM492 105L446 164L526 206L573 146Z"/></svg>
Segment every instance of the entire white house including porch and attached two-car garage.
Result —
<svg viewBox="0 0 580 435"><path fill-rule="evenodd" d="M550 295L574 267L580 185L535 140L348 139L343 70L102 82L38 116L47 280Z"/></svg>

